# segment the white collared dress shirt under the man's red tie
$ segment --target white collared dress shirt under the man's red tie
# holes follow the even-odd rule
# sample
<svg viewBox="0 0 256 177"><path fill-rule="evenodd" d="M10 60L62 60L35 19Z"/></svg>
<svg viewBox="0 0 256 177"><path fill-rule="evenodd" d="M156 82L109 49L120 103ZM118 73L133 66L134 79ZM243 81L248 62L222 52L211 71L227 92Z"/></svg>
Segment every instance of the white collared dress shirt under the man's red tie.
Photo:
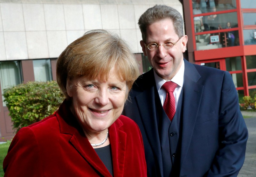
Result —
<svg viewBox="0 0 256 177"><path fill-rule="evenodd" d="M173 92L173 95L175 97L175 108L177 108L178 101L179 101L179 96L180 96L180 93L181 93L181 89L183 87L184 68L185 68L184 61L182 61L182 65L181 65L178 73L170 80L170 81L175 82L176 84L178 84L178 86L175 88L175 90ZM161 87L167 81L162 79L161 77L159 77L155 71L154 71L154 77L155 77L155 82L156 82L156 88L157 88L158 94L160 96L161 103L163 105L165 97L166 97L166 91Z"/></svg>

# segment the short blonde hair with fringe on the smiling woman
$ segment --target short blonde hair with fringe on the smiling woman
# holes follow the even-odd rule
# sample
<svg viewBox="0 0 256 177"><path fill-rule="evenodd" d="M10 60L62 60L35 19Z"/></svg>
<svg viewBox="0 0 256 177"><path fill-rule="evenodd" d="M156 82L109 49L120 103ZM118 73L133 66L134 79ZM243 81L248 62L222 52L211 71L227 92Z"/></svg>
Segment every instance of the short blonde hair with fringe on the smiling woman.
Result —
<svg viewBox="0 0 256 177"><path fill-rule="evenodd" d="M112 68L126 81L128 90L140 74L135 56L124 40L106 30L91 30L68 45L57 59L57 83L69 99L67 80L82 76L107 80Z"/></svg>

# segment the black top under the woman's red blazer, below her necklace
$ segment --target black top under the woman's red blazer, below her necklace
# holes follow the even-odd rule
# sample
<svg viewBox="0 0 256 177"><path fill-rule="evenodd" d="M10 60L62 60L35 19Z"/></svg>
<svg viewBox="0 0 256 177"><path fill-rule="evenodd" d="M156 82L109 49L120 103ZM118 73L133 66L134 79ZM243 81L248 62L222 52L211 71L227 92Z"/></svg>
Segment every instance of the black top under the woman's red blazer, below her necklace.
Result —
<svg viewBox="0 0 256 177"><path fill-rule="evenodd" d="M104 146L102 148L95 148L94 150L96 151L96 153L100 157L103 164L107 167L110 174L113 176L112 157L111 157L110 145Z"/></svg>

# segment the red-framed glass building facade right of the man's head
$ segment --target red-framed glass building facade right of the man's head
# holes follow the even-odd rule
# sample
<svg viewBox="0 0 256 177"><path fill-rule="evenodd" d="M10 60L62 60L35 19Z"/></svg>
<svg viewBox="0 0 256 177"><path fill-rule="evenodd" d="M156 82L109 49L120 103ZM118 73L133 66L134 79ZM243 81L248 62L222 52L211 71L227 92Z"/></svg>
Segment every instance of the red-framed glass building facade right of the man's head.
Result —
<svg viewBox="0 0 256 177"><path fill-rule="evenodd" d="M239 99L243 96L254 98L255 0L189 0L183 1L183 7L186 35L190 39L188 60L229 71Z"/></svg>

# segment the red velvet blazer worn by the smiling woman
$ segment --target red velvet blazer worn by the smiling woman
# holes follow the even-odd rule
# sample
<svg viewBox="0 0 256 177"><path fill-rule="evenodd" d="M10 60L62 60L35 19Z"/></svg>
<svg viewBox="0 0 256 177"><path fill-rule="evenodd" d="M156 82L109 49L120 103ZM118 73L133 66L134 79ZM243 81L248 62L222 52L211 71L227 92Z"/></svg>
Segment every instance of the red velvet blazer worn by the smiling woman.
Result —
<svg viewBox="0 0 256 177"><path fill-rule="evenodd" d="M142 136L137 124L121 115L109 127L113 175L146 176ZM40 122L15 135L4 159L5 176L111 176L90 145L67 101Z"/></svg>

